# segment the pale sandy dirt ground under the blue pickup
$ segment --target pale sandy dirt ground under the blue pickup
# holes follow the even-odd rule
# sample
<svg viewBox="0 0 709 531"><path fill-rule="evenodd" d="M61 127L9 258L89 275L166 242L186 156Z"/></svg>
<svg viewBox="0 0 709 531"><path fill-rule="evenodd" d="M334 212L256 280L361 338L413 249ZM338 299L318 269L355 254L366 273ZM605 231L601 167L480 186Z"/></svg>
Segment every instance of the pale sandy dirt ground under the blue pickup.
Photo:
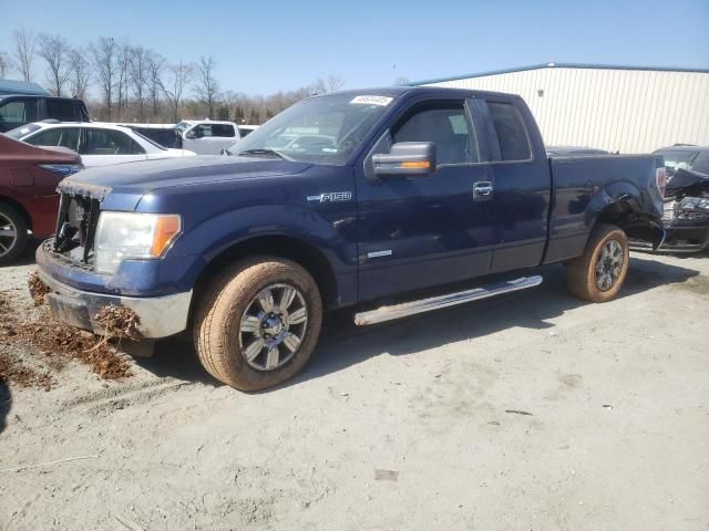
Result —
<svg viewBox="0 0 709 531"><path fill-rule="evenodd" d="M32 270L0 270L18 312ZM53 385L0 384L0 529L709 529L709 256L636 253L597 305L542 271L376 327L330 315L258 394L181 342L109 382L1 343Z"/></svg>

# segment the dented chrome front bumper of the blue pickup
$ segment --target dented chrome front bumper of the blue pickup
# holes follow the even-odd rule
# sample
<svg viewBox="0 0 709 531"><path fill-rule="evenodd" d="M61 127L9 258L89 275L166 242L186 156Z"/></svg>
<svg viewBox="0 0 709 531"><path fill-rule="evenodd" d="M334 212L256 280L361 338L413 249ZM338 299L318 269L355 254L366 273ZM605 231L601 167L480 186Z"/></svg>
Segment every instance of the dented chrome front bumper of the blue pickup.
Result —
<svg viewBox="0 0 709 531"><path fill-rule="evenodd" d="M138 332L146 340L167 337L187 327L192 291L164 296L140 298L94 293L68 285L39 269L49 287L48 301L56 320L101 334L94 319L102 308L114 304L133 310L140 317Z"/></svg>

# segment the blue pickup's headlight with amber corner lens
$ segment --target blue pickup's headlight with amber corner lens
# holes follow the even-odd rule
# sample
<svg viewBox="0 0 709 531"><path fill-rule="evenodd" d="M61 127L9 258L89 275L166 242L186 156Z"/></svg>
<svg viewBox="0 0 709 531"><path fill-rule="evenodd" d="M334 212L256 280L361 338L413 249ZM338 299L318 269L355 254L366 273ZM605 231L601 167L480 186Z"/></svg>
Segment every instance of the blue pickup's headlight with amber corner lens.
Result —
<svg viewBox="0 0 709 531"><path fill-rule="evenodd" d="M176 214L103 211L99 217L94 270L113 274L123 260L161 258L182 231Z"/></svg>

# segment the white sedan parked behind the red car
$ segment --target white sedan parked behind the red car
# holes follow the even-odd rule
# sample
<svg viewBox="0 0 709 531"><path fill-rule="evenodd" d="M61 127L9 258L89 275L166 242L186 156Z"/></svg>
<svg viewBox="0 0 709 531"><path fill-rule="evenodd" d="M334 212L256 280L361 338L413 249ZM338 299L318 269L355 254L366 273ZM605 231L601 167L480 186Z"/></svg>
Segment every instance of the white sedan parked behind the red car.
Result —
<svg viewBox="0 0 709 531"><path fill-rule="evenodd" d="M81 155L88 168L156 158L192 157L194 152L171 149L127 127L92 122L44 121L9 131L8 136L34 146L63 146Z"/></svg>

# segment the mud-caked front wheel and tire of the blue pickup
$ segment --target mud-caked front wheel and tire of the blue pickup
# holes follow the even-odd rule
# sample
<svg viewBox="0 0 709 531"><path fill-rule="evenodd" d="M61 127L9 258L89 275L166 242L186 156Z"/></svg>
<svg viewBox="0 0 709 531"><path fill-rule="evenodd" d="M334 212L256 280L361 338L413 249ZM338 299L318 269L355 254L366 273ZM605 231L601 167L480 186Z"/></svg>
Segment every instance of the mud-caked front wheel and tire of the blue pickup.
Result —
<svg viewBox="0 0 709 531"><path fill-rule="evenodd" d="M206 290L195 313L195 346L218 381L265 389L300 372L321 322L312 277L290 260L256 257L232 264Z"/></svg>

